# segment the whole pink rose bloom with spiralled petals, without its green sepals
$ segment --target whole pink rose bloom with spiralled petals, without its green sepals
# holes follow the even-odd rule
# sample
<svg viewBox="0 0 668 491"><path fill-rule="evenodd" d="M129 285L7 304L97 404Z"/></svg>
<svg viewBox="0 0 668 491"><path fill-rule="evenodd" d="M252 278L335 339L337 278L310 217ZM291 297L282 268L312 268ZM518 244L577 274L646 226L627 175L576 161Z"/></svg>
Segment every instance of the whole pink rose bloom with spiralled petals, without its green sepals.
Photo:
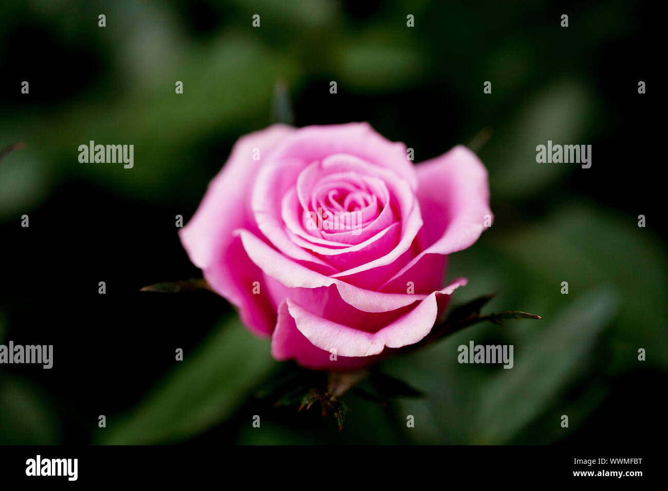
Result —
<svg viewBox="0 0 668 491"><path fill-rule="evenodd" d="M277 360L359 369L444 313L448 255L490 223L487 171L456 146L413 166L369 124L243 136L180 238Z"/></svg>

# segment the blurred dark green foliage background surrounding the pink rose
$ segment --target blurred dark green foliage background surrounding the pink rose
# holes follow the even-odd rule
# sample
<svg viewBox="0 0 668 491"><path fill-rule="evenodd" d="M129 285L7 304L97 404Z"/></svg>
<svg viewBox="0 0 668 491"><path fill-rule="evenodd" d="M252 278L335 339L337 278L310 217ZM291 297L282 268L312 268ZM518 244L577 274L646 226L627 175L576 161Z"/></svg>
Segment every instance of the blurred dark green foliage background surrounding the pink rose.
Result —
<svg viewBox="0 0 668 491"><path fill-rule="evenodd" d="M53 344L54 367L0 366L0 444L665 440L659 21L621 0L3 1L0 148L26 148L0 161L0 342ZM416 162L476 148L496 220L451 257L448 276L470 281L455 303L496 291L486 311L544 320L383 362L427 397L351 395L339 433L257 397L285 367L224 299L139 293L200 277L175 216L190 218L236 138L273 121L277 82L297 126L368 121ZM134 168L80 164L90 140L134 144ZM592 144L592 167L537 164L547 140ZM471 339L514 345L514 368L459 365Z"/></svg>

